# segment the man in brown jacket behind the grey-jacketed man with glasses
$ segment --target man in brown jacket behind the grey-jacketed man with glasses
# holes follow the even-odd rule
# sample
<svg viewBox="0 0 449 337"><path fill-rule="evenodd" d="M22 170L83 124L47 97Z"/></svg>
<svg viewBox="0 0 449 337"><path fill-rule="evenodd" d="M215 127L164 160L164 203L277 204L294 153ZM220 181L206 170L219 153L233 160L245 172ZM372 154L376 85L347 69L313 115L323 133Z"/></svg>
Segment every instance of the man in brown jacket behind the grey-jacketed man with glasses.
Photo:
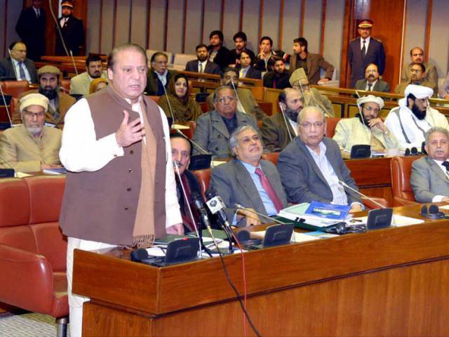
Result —
<svg viewBox="0 0 449 337"><path fill-rule="evenodd" d="M267 118L267 114L265 114L262 109L260 109L259 105L254 99L253 92L248 88L239 88L239 71L236 68L226 67L221 74L221 85L229 86L234 89L234 86L237 91L237 110L239 112L243 112L244 114L250 114L258 121L262 121L264 118ZM234 86L232 84L234 83ZM235 94L235 93L234 93ZM208 95L206 98L206 102L208 103L209 111L214 109L213 105L213 93Z"/></svg>

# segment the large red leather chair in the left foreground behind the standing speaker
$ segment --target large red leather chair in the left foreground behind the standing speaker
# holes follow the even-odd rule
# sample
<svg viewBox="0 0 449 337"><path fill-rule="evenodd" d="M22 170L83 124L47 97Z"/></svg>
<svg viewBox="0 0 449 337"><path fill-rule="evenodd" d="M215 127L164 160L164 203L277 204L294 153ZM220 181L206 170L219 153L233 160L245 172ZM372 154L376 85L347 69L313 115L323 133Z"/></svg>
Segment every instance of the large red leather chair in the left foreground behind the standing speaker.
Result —
<svg viewBox="0 0 449 337"><path fill-rule="evenodd" d="M0 180L0 302L67 329L67 238L58 218L65 177Z"/></svg>

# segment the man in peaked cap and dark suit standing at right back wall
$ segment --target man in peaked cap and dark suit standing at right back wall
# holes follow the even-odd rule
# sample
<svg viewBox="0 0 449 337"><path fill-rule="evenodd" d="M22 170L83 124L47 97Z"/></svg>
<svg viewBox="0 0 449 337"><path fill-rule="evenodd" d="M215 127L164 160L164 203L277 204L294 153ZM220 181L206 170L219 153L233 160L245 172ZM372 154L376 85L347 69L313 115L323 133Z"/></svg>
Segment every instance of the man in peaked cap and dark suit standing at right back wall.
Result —
<svg viewBox="0 0 449 337"><path fill-rule="evenodd" d="M348 60L351 66L351 88L354 88L356 81L364 79L364 70L370 63L377 65L380 76L384 74L384 46L381 41L371 37L371 27L373 27L373 20L361 20L358 24L360 38L349 43Z"/></svg>

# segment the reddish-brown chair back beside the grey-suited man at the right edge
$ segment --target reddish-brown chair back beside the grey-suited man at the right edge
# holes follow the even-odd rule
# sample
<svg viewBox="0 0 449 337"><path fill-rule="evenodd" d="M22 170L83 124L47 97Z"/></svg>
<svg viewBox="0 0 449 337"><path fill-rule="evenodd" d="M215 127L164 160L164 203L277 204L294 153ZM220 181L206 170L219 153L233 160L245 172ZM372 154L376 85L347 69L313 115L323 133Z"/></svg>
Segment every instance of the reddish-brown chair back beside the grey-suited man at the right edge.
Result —
<svg viewBox="0 0 449 337"><path fill-rule="evenodd" d="M393 190L394 206L417 204L410 185L412 163L417 157L391 158L391 189Z"/></svg>

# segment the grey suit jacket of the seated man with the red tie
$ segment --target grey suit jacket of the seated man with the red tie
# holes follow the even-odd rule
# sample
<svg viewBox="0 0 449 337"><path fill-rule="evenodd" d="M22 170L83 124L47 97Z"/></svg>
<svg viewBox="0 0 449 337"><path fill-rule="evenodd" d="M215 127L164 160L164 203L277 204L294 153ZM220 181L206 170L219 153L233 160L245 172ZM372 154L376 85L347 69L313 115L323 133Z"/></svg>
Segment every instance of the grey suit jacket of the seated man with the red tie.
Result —
<svg viewBox="0 0 449 337"><path fill-rule="evenodd" d="M261 159L260 167L272 184L277 196L281 199L283 206L286 207L286 192L283 190L281 178L279 177L276 166L271 161ZM243 207L249 207L258 213L267 215L267 211L250 173L248 173L245 166L239 160L232 159L226 164L222 164L213 169L210 175L210 186L215 188L217 194L225 202L227 206L225 213L229 223L232 223L236 211L235 204L241 204ZM265 218L260 217L260 220L262 223L269 223L269 220Z"/></svg>

